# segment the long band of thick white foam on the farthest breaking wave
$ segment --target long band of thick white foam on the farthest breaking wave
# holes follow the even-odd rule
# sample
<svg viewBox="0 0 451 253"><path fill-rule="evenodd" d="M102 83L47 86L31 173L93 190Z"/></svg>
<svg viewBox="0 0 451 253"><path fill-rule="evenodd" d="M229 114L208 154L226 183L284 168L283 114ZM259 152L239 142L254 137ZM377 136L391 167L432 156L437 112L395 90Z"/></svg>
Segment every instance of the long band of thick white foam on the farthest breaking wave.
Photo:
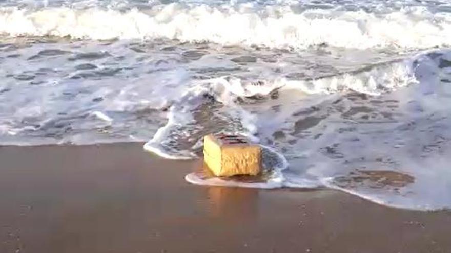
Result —
<svg viewBox="0 0 451 253"><path fill-rule="evenodd" d="M308 48L431 48L449 45L451 14L424 7L388 13L306 10L286 5L208 6L172 3L151 10L65 7L0 9L0 33L10 36L71 36L82 39L210 41L227 45Z"/></svg>

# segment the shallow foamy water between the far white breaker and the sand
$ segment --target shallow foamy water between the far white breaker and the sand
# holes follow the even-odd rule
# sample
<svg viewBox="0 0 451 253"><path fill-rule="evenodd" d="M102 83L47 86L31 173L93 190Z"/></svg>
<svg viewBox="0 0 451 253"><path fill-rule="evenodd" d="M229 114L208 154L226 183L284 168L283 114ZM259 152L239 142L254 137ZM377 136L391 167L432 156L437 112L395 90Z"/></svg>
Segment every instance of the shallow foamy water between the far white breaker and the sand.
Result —
<svg viewBox="0 0 451 253"><path fill-rule="evenodd" d="M449 50L356 50L355 61L354 50L331 48L155 44L4 43L1 144L148 141L148 151L188 159L201 153L204 135L239 133L283 155L277 160L288 163L274 180L186 179L329 187L401 208L451 207Z"/></svg>

